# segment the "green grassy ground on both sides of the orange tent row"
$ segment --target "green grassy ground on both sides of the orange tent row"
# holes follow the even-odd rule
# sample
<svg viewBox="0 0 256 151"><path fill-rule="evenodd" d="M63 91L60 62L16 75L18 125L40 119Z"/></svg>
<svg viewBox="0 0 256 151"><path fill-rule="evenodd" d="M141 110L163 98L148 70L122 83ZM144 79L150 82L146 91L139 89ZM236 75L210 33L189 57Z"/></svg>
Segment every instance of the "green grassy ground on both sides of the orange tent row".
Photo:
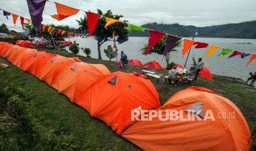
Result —
<svg viewBox="0 0 256 151"><path fill-rule="evenodd" d="M47 51L54 53L50 50ZM63 56L73 56L66 51L58 51L57 53ZM102 63L108 67L111 72L120 70L116 62L90 59L83 56L78 57L84 62ZM57 141L53 140L53 142L56 141L57 143L52 143L52 146L48 147L47 149L56 149L56 146L59 145L61 146L59 148L63 150L69 150L70 148L68 147L70 146L74 146L73 149L75 148L79 150L139 150L139 148L134 144L116 135L116 133L112 131L112 129L104 122L90 117L89 113L83 108L80 108L76 104L70 102L66 96L59 94L55 89L48 86L45 82L40 81L30 73L23 72L21 69L12 66L6 59L1 58L1 60L3 62L7 62L10 66L8 69L0 68L0 82L4 84L2 85L3 90L7 89L6 87L15 87L22 89L26 92L26 94L29 94L30 99L28 101L28 105L35 109L36 112L34 112L33 115L37 121L37 125L40 125L38 137L40 137L42 133L47 133L48 136L51 136L47 137L50 141L52 137L57 139ZM127 69L121 69L121 71L139 72L141 69L141 67L129 66ZM167 74L167 72L164 70L157 70L157 72ZM174 86L161 82L156 83L154 79L152 79L152 83L154 83L157 91L159 91L162 104L165 103L167 98L169 98L175 92L190 86L183 84ZM214 76L214 81L199 78L194 85L203 86L225 95L241 109L248 121L250 129L253 130L256 128L255 88L246 86L235 78L217 75ZM0 91L0 97L5 99L4 95L2 95L2 91ZM0 111L0 117L1 114L6 115L9 113L8 109L4 108L4 106ZM12 116L10 115L10 117ZM1 126L3 127L4 124L1 124L0 120L0 127ZM8 129L10 128L4 128L4 130ZM4 138L1 138L0 131L0 141L1 139ZM35 144L30 147L39 149L40 143L41 146L43 146L43 141L47 139L40 139L42 141L35 142ZM65 145L64 143L67 144ZM27 147L27 149L31 149L30 147ZM46 148L41 147L40 149ZM70 150L72 150L72 148Z"/></svg>

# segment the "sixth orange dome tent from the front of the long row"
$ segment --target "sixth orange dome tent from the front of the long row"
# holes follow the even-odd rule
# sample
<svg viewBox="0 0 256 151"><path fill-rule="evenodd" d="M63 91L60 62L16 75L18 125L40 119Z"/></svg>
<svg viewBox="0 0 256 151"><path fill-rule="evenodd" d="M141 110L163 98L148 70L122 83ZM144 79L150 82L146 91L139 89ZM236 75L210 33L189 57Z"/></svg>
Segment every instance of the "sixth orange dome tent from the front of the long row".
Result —
<svg viewBox="0 0 256 151"><path fill-rule="evenodd" d="M17 59L13 61L13 65L20 68L23 62L25 62L30 55L34 55L35 53L37 53L36 49L25 49L21 51L20 55L17 56Z"/></svg>

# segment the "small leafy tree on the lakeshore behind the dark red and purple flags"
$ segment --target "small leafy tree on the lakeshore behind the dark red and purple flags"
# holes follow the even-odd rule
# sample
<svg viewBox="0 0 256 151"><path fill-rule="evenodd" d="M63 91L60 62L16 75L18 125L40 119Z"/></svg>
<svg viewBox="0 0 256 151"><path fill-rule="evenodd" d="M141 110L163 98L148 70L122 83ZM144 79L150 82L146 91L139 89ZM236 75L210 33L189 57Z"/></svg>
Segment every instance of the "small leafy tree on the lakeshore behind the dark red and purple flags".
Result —
<svg viewBox="0 0 256 151"><path fill-rule="evenodd" d="M149 53L148 54L152 54L152 53L155 53L155 54L159 54L159 55L164 55L164 50L165 50L165 42L166 42L166 38L167 38L167 35L165 35L161 40L160 42L158 42L154 47L152 47L150 50L149 50ZM177 48L178 47L181 47L181 40L179 40L167 53L167 55L165 55L165 61L167 63L167 68L169 67L170 64L170 52L171 51L178 51ZM146 49L148 48L148 44L145 44L143 48L141 48L141 52L143 55L145 55L145 51Z"/></svg>

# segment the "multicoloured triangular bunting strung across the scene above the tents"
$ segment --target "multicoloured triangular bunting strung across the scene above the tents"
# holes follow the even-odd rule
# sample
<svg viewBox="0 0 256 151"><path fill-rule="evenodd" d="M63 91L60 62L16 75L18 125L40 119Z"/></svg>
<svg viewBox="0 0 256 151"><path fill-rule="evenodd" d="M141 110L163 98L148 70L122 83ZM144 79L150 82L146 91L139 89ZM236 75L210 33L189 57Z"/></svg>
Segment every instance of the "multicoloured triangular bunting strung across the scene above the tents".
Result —
<svg viewBox="0 0 256 151"><path fill-rule="evenodd" d="M79 11L84 11L84 10L81 10L81 9L69 7L67 5L60 4L60 3L57 3L57 2L52 2L52 1L49 1L49 0L38 0L38 1L27 0L28 7L29 7L29 13L30 13L31 20L32 20L31 26L34 25L35 31L37 33L41 31L42 13L43 13L43 9L45 7L46 2L55 3L56 9L57 9L57 14L51 15L51 16L52 16L53 19L56 19L58 21L66 19L69 16L73 16L73 15L77 14ZM93 32L94 32L94 30L97 26L97 22L99 21L99 18L101 16L99 14L92 13L90 11L84 11L84 12L86 14L87 21L88 21L88 30L89 30L90 36L92 36L92 34L93 34ZM8 14L8 12L5 12L5 11L4 11L3 14L4 14L4 16L10 15L10 13ZM127 22L116 20L116 19L111 19L111 18L106 18L105 16L104 16L104 18L106 19L106 25L105 25L106 30L107 30L108 26L111 26L112 24L115 24L115 23L128 24ZM17 16L14 15L13 19L17 20ZM14 21L14 24L16 24L16 21ZM149 44L148 44L148 48L145 51L145 55L147 55L149 53L150 49L152 47L154 47L154 45L156 43L158 43L162 39L162 37L165 36L165 34L167 34L165 32L154 31L154 30L144 28L144 27L141 27L141 26L137 26L137 25L133 25L133 24L128 24L128 25L129 25L128 26L129 31L144 32L145 30L149 30L149 34L150 34ZM51 30L51 27L48 27L48 32L50 30ZM52 32L54 32L54 31L55 31L55 29L52 29ZM59 31L58 30L58 34L60 34L60 33L65 34L66 31ZM68 36L70 36L70 34L73 35L70 32L68 32L67 34L68 34ZM182 39L181 37L177 37L177 36L167 34L164 55L166 55L168 53L168 51L170 51L170 49L178 42L178 40L181 40L181 39ZM182 56L186 55L187 51L190 48L194 47L194 46L195 46L195 49L208 48L209 44L202 43L202 42L196 42L196 41L189 40L189 39L184 39L184 46L183 46L183 49L182 49ZM207 59L211 54L213 54L215 51L217 51L219 49L221 49L221 47L216 46L216 45L210 45L210 47L208 48L207 54L205 56L205 59ZM228 58L231 58L231 57L237 56L237 55L240 55L242 58L244 58L246 56L251 55L251 58L248 61L247 66L254 59L256 59L256 54L247 54L247 53L243 53L242 51L239 51L239 50L233 51L233 50L227 49L227 48L222 48L222 51L219 54L219 57L223 57L227 54L231 54Z"/></svg>

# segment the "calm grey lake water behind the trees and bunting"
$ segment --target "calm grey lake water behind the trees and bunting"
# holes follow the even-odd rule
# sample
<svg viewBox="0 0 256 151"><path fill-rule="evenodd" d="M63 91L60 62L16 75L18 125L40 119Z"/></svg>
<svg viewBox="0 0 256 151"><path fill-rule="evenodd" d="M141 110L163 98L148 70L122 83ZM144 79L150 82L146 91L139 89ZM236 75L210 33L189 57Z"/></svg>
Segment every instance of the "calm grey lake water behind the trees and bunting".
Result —
<svg viewBox="0 0 256 151"><path fill-rule="evenodd" d="M192 38L187 38L192 39ZM67 39L68 40L68 39ZM79 47L90 48L91 49L91 57L97 58L97 42L92 38L70 38L73 42L74 40L79 43ZM244 53L256 54L256 39L232 39L232 38L195 38L194 40L198 42L205 42L212 45L218 45L222 48L230 48L233 50L241 50ZM238 44L238 43L252 43L252 44ZM123 44L118 44L117 48L120 53L121 50L127 54L128 59L138 59L142 63L146 63L148 61L158 61L161 63L163 67L166 67L165 58L162 55L150 54L148 56L141 55L140 49L143 48L145 44L148 43L148 37L129 37L129 40ZM107 48L107 45L113 45L113 42L106 42L101 46L101 56L102 59L108 60L103 50ZM182 45L183 47L183 45ZM178 48L178 52L171 52L170 61L174 61L181 65L184 65L186 61L186 56L182 57L181 51L182 47ZM68 48L67 48L68 49ZM195 57L197 60L199 57L204 59L206 55L207 49L191 49L190 55L188 58L187 68L192 64L192 57ZM249 76L249 72L256 71L256 61L253 61L249 67L246 67L250 56L242 59L240 56L232 57L231 59L227 59L229 55L224 57L218 57L217 55L221 52L221 49L216 51L213 55L211 55L207 60L203 60L205 67L207 67L211 73L217 75L226 75L231 77L237 77L242 79L247 79ZM79 52L79 55L85 55L83 51ZM120 56L118 56L120 57ZM116 60L116 59L113 59Z"/></svg>

